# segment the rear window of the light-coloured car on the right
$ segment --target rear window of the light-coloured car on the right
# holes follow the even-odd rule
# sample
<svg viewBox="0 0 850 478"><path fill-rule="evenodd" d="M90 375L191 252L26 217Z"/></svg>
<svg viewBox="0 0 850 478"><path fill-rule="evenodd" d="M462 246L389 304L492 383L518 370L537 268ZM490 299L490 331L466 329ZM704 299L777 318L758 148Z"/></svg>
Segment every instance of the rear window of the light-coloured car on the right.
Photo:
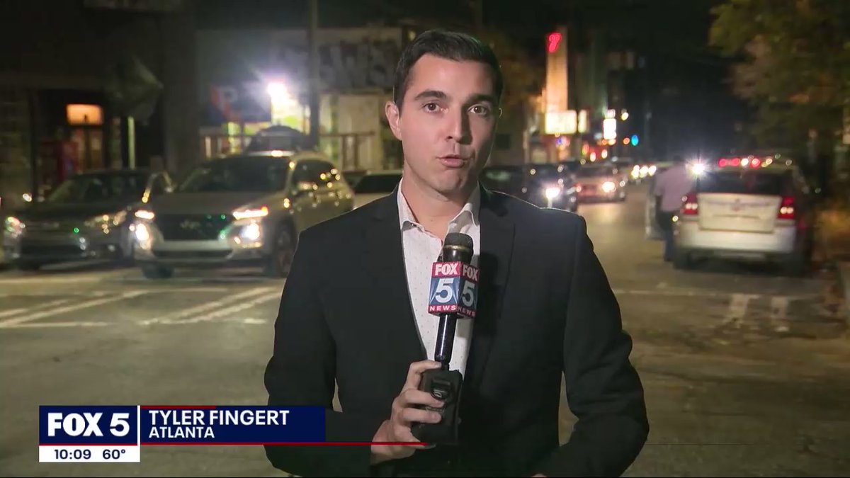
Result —
<svg viewBox="0 0 850 478"><path fill-rule="evenodd" d="M792 187L791 174L744 170L704 174L697 181L696 191L786 196L791 194Z"/></svg>

